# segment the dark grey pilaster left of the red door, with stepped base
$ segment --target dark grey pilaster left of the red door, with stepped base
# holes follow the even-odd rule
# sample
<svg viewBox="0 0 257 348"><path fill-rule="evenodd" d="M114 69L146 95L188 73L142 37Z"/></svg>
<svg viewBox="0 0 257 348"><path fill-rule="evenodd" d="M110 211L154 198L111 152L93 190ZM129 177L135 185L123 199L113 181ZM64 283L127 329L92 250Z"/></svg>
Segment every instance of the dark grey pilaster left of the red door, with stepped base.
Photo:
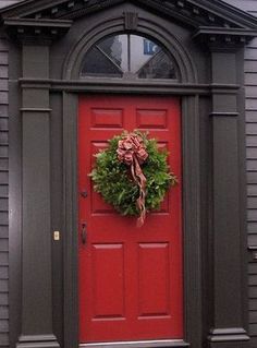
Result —
<svg viewBox="0 0 257 348"><path fill-rule="evenodd" d="M49 77L49 46L22 47L23 77ZM22 89L22 333L19 348L60 347L52 331L49 89Z"/></svg>

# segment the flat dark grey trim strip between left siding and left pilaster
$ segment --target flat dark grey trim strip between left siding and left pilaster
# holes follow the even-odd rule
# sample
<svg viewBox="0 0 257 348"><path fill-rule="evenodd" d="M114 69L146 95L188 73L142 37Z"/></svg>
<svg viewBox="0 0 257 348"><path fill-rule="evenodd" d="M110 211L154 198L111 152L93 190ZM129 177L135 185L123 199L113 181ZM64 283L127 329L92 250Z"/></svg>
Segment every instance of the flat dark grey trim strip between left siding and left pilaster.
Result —
<svg viewBox="0 0 257 348"><path fill-rule="evenodd" d="M9 81L9 97L13 101L9 106L10 112L10 212L12 219L10 219L9 229L9 301L10 301L10 347L15 347L17 337L21 333L21 255L22 255L22 184L21 184L21 118L20 118L20 89L17 81L15 80L15 69L17 68L17 50L10 45L10 81Z"/></svg>

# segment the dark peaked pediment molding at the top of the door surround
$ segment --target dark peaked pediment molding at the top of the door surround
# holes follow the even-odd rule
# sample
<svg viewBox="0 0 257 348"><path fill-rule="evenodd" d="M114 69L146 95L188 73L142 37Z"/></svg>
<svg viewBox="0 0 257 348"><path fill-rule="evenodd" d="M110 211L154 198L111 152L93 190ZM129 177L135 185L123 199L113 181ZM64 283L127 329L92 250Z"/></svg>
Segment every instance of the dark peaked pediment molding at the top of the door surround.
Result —
<svg viewBox="0 0 257 348"><path fill-rule="evenodd" d="M76 19L87 13L101 11L115 4L127 2L125 0L28 0L24 3L12 5L0 11L2 19ZM130 0L128 0L130 2ZM135 2L132 1L131 2ZM205 0L137 0L138 7L147 7L160 15L172 17L186 26L196 29L215 28L215 33L230 29L242 29L248 33L257 27L257 20L244 11L235 9L227 3L212 0L206 4ZM201 33L203 34L203 33ZM247 36L247 33L241 33ZM253 35L250 34L250 37Z"/></svg>

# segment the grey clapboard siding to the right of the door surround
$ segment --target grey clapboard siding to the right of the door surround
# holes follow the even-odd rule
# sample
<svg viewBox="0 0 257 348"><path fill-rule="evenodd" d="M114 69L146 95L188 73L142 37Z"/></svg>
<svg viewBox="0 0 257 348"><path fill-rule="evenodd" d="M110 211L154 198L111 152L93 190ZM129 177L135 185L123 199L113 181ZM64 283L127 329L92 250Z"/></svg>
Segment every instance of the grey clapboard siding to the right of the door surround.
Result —
<svg viewBox="0 0 257 348"><path fill-rule="evenodd" d="M256 0L227 0L230 4L257 16ZM257 245L257 38L245 49L245 117L247 160L247 232L248 245ZM257 347L257 263L248 264L250 347Z"/></svg>

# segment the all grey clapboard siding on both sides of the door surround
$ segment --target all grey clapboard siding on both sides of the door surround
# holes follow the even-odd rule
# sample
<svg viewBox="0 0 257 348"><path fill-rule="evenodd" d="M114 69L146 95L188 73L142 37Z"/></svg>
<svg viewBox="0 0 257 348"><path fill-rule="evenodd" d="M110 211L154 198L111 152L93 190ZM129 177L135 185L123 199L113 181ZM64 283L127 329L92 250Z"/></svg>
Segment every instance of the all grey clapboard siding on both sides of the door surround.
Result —
<svg viewBox="0 0 257 348"><path fill-rule="evenodd" d="M22 0L20 0L22 1ZM0 9L20 2L0 0ZM257 16L256 0L227 0ZM8 311L8 45L0 38L0 347L9 345ZM257 245L257 39L245 51L248 244ZM257 347L257 264L248 265L250 346Z"/></svg>

